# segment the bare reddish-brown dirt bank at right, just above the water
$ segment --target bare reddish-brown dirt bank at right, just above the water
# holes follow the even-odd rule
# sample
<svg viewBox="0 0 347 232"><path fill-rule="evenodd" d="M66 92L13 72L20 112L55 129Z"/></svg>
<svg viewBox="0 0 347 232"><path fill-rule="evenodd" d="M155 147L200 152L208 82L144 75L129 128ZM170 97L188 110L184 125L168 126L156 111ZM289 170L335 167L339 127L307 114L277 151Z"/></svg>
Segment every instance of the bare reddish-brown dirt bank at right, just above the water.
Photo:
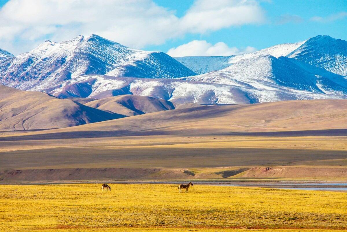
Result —
<svg viewBox="0 0 347 232"><path fill-rule="evenodd" d="M254 167L235 177L347 177L347 168L338 167Z"/></svg>

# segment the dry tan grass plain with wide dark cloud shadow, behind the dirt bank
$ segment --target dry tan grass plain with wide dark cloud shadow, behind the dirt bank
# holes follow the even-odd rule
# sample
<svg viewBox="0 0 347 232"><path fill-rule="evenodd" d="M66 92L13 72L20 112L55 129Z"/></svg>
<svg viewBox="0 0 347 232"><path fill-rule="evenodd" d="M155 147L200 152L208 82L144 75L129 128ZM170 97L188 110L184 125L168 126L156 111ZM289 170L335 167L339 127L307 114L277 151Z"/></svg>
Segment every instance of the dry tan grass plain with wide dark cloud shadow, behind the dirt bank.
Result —
<svg viewBox="0 0 347 232"><path fill-rule="evenodd" d="M346 140L342 136L167 135L0 141L0 170L344 166Z"/></svg>

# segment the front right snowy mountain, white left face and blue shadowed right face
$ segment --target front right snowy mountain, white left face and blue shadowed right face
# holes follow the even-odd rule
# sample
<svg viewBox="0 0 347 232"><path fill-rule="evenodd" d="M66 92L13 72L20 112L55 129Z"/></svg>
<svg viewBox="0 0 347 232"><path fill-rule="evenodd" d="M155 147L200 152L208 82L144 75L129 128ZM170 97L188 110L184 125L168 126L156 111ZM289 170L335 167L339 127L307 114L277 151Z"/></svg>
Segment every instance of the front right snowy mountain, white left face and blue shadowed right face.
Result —
<svg viewBox="0 0 347 232"><path fill-rule="evenodd" d="M182 79L258 90L310 91L337 96L347 94L347 80L343 76L282 56L253 56L219 71Z"/></svg>

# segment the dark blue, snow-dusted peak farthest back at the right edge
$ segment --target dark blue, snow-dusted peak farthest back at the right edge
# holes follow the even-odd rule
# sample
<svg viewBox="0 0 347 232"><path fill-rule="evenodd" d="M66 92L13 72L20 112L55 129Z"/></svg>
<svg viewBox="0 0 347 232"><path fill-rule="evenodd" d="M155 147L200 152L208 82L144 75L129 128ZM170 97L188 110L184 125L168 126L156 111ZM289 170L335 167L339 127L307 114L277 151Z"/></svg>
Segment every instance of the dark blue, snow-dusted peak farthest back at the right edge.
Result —
<svg viewBox="0 0 347 232"><path fill-rule="evenodd" d="M347 41L345 40L318 35L308 39L287 57L347 76Z"/></svg>

